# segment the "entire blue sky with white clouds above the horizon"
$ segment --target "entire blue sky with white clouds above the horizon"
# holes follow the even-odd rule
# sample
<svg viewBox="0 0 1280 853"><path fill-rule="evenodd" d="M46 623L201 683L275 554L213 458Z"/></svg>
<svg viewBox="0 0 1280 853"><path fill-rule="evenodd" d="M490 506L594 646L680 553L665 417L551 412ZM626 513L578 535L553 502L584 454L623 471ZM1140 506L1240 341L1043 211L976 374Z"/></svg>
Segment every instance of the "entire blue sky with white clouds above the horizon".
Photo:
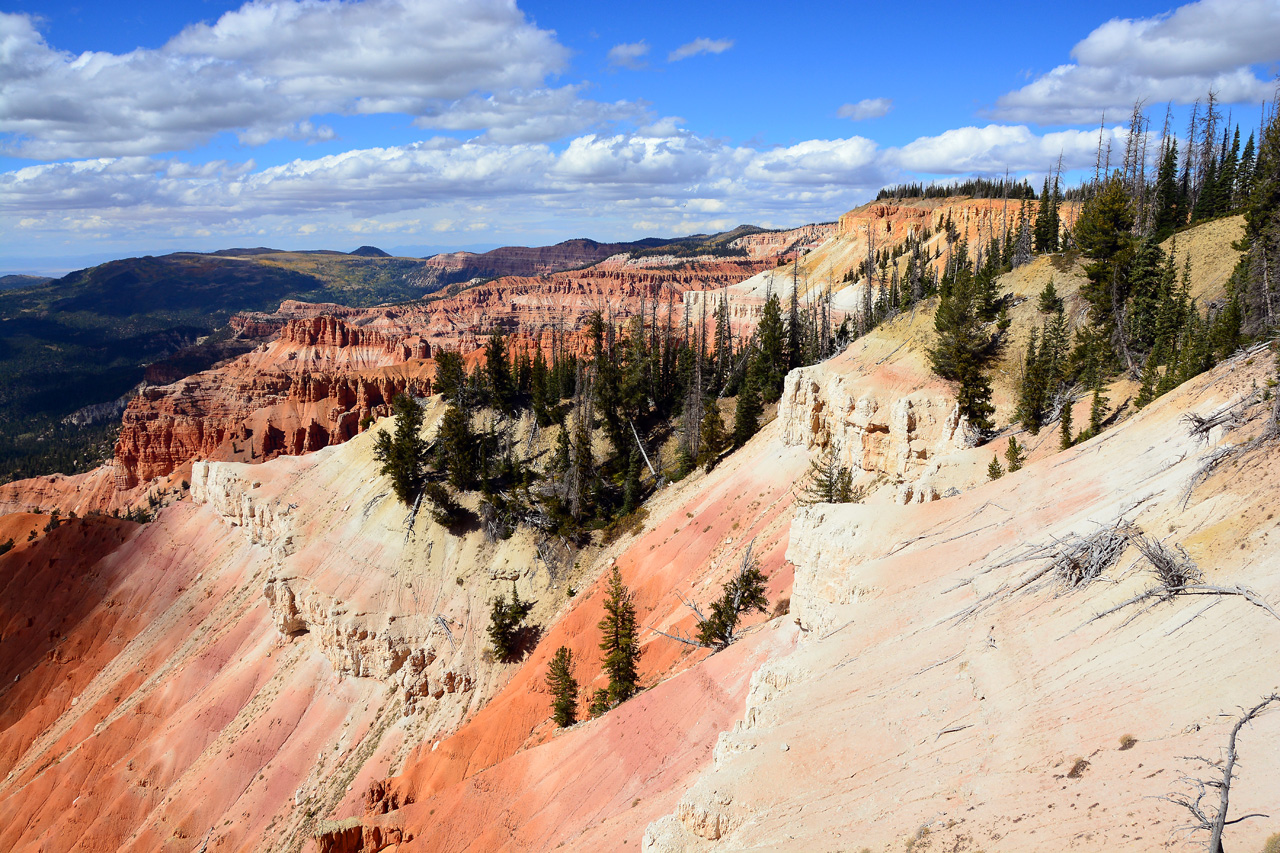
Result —
<svg viewBox="0 0 1280 853"><path fill-rule="evenodd" d="M0 0L0 272L795 225L1277 70L1276 0Z"/></svg>

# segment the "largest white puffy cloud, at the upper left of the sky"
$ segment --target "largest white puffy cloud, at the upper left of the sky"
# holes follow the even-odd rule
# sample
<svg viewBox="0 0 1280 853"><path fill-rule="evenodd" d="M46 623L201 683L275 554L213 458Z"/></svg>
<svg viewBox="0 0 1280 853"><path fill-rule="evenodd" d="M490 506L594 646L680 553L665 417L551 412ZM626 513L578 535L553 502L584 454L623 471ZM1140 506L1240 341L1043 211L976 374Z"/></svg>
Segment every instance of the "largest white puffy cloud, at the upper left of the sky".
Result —
<svg viewBox="0 0 1280 853"><path fill-rule="evenodd" d="M157 154L223 132L248 145L324 140L333 131L312 124L317 115L406 113L448 126L451 105L474 114L485 97L517 114L530 97L559 97L552 131L577 132L611 105L530 95L567 60L513 0L251 0L159 49L79 55L50 46L31 17L0 13L0 151ZM527 117L493 120L538 132Z"/></svg>

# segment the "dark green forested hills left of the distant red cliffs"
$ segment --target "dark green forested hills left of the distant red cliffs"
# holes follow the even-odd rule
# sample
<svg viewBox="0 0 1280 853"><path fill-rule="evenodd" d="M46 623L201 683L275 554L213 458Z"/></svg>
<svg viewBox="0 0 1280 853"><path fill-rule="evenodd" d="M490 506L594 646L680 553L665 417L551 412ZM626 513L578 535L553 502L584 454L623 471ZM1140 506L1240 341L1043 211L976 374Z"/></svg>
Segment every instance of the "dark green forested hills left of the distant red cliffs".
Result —
<svg viewBox="0 0 1280 853"><path fill-rule="evenodd" d="M316 257L307 264L328 269L308 274L260 257L134 257L0 292L0 482L110 459L118 420L64 419L128 393L147 365L174 353L210 366L225 355L215 333L237 311L274 311L287 298L360 306L421 296L407 275L420 266L412 260L340 256L338 268Z"/></svg>

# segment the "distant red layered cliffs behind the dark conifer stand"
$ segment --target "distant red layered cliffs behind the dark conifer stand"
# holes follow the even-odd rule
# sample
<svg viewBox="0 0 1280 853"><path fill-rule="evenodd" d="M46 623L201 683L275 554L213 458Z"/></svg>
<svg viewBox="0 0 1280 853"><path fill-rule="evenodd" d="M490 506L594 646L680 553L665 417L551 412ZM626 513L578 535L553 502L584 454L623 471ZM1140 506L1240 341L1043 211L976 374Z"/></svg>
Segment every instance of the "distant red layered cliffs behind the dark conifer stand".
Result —
<svg viewBox="0 0 1280 853"><path fill-rule="evenodd" d="M348 309L287 301L274 315L241 316L241 333L276 328L275 339L218 369L142 389L116 442L119 485L132 489L196 459L261 461L342 443L361 423L389 414L396 394L430 393L438 348L472 355L495 327L529 341L559 329L572 345L591 313L621 321L643 305L660 305L662 320L680 323L685 291L741 280L762 264L508 277L428 302Z"/></svg>

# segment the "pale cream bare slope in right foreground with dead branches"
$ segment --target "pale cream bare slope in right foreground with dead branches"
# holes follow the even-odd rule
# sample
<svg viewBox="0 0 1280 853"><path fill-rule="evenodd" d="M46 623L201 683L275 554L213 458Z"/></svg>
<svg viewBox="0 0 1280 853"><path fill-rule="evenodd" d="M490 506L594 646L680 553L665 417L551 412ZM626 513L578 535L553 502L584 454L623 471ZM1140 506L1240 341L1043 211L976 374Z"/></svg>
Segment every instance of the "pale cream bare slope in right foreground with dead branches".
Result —
<svg viewBox="0 0 1280 853"><path fill-rule="evenodd" d="M1280 686L1280 620L1185 596L1091 622L1151 588L1149 564L1130 546L1069 589L1043 555L1123 520L1185 548L1206 583L1280 601L1276 438L1189 489L1207 453L1268 428L1274 377L1271 352L1240 355L1070 451L1032 438L1037 461L957 497L801 511L800 643L755 674L714 768L645 849L1180 847L1188 815L1160 798L1189 792L1180 776L1206 768L1183 757L1219 760L1239 707ZM1245 423L1208 443L1183 421L1231 406ZM977 466L989 451L968 453ZM1274 815L1280 713L1247 729L1242 754L1231 815ZM1226 843L1261 849L1275 830L1251 821Z"/></svg>

